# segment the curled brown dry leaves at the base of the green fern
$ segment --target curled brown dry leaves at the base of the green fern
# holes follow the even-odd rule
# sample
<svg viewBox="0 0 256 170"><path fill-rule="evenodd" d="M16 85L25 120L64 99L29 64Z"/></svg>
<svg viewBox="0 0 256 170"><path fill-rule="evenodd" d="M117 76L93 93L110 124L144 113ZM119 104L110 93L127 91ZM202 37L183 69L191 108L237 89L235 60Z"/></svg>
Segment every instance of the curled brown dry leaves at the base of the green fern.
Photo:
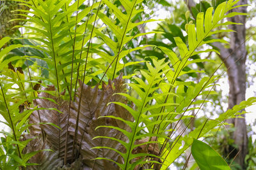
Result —
<svg viewBox="0 0 256 170"><path fill-rule="evenodd" d="M31 125L31 136L38 136L38 138L42 141L42 131L40 129L42 128L46 134L45 143L47 146L49 146L49 148L54 150L54 152L58 153L56 159L61 159L61 161L63 161L65 155L65 136L67 132L67 122L69 122L67 160L71 165L63 166L61 162L61 166L58 166L58 169L68 169L72 166L76 167L77 169L80 165L80 162L83 164L81 164L78 169L118 169L118 167L113 162L108 160L92 160L97 157L105 157L107 159L112 159L116 162L122 163L122 157L120 157L118 153L108 149L97 150L91 148L95 146L108 146L115 148L116 150L120 150L120 152L125 152L124 146L120 145L120 143L116 141L113 141L112 139L93 139L96 136L109 136L127 141L127 138L125 138L124 134L116 131L115 129L99 128L95 131L95 128L99 125L113 125L122 129L126 129L127 131L131 131L131 129L129 129L129 127L120 120L111 118L99 118L106 115L113 115L115 117L121 117L125 120L133 121L131 114L124 108L116 104L108 104L113 101L125 103L124 97L113 95L115 93L125 92L124 80L122 79L122 76L119 76L113 81L109 80L108 85L105 83L102 84L102 90L100 90L98 86L92 88L85 84L82 86L81 81L79 83L80 87L76 92L76 100L71 102L69 121L67 121L69 101L63 101L60 99L60 101L58 101L58 97L52 96L46 92L41 92L38 94L38 97L47 97L53 99L56 102L58 101L58 103L61 103L60 106L58 106L58 104L53 103L47 99L36 99L35 101L35 104L38 104L38 107L40 108L56 108L62 112L59 113L56 110L40 110L41 122L50 122L52 124L58 125L61 130L50 124L38 125L38 113L37 111L34 111L29 117L30 123L35 124ZM47 88L42 88L42 90L55 91L55 88L54 86L49 86ZM78 111L80 96L81 108ZM79 121L76 134L76 121L78 112ZM76 136L76 138L74 136ZM76 139L76 145L74 149L76 150L75 155L77 156L77 159L75 162L72 162L72 143L74 139ZM38 149L44 149L44 147ZM26 148L26 150L29 150L29 148ZM44 164L44 162L42 162L44 159L40 159L40 157L44 157L44 155L40 154L45 154L45 152L36 154L30 162ZM38 169L40 169L40 166L38 166Z"/></svg>

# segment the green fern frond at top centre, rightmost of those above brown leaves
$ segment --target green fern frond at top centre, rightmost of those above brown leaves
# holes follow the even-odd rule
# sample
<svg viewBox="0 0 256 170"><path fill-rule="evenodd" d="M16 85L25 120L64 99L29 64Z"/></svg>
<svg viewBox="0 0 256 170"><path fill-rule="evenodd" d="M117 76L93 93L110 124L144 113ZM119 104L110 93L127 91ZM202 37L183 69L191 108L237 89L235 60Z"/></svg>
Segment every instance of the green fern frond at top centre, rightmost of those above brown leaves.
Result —
<svg viewBox="0 0 256 170"><path fill-rule="evenodd" d="M108 39L107 44L111 50L113 50L113 57L111 57L111 62L109 62L112 67L108 67L106 71L109 71L109 75L112 76L112 79L115 78L118 72L118 67L122 68L120 65L120 59L122 59L125 55L122 55L122 51L125 48L125 44L131 41L131 39L137 38L139 36L143 36L145 34L155 33L155 32L146 32L141 34L136 34L134 36L129 36L131 34L131 30L138 25L145 24L147 22L154 22L156 20L145 20L141 22L134 23L132 22L132 18L138 13L141 13L143 10L136 10L136 6L140 4L142 1L132 0L132 1L120 1L122 6L124 6L124 11L120 11L120 9L115 6L115 4L111 3L109 0L103 0L104 4L108 6L113 11L116 19L120 21L120 25L115 24L111 18L107 17L104 13L99 13L99 18L104 22L104 24L108 25L108 27L113 31L116 36L117 42L108 38L107 36L102 36L103 39ZM145 47L145 46L144 46ZM130 49L132 51L136 49Z"/></svg>

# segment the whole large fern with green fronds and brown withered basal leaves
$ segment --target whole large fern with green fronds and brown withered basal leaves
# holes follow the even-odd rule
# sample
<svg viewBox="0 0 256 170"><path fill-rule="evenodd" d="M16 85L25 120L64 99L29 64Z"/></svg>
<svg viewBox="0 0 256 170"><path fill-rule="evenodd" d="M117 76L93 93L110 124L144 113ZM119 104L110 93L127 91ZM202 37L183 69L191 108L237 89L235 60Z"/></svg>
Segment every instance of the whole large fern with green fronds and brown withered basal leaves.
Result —
<svg viewBox="0 0 256 170"><path fill-rule="evenodd" d="M189 74L204 74L193 64L214 62L193 56L219 53L207 44L227 43L214 34L232 31L226 26L237 23L226 18L245 15L228 13L238 1L198 13L195 24L186 24L188 42L175 37L172 47L138 45L147 34L163 33L140 32L156 21L144 13L147 1L17 2L28 9L19 10L22 34L0 40L0 48L10 44L0 52L0 113L10 127L1 138L1 169L167 169L192 144L198 161L196 139L256 102L250 98L187 131L196 117L190 111L198 113L220 78L190 81ZM164 58L136 59L145 48Z"/></svg>

